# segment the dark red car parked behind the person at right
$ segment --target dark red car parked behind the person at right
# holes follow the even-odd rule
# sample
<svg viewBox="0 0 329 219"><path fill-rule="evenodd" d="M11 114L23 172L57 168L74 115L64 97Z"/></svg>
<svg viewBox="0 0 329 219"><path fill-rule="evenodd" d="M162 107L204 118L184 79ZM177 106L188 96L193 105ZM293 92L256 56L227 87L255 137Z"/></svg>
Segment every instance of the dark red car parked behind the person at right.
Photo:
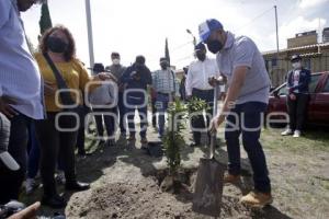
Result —
<svg viewBox="0 0 329 219"><path fill-rule="evenodd" d="M271 92L268 107L269 113L287 113L286 83ZM309 82L309 102L307 106L306 124L329 126L329 71L313 73ZM284 116L271 116L281 119Z"/></svg>

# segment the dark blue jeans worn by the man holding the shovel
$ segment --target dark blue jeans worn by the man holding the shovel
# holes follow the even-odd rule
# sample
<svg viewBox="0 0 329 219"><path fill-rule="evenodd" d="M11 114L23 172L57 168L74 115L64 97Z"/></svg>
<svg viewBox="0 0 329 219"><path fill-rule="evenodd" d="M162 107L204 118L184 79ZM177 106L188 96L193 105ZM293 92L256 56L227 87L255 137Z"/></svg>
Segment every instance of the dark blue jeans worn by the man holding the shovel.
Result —
<svg viewBox="0 0 329 219"><path fill-rule="evenodd" d="M240 174L239 136L242 134L242 145L253 171L254 189L262 193L271 192L265 154L259 141L262 127L261 118L265 110L266 104L261 102L237 104L235 108L230 111L235 116L227 116L225 128L228 172L232 175Z"/></svg>

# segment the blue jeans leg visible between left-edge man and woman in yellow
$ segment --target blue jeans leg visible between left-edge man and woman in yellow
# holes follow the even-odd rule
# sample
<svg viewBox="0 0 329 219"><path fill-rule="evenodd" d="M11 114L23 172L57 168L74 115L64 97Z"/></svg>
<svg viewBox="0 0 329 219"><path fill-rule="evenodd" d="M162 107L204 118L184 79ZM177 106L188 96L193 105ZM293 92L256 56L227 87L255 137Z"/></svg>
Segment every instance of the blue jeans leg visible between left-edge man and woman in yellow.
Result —
<svg viewBox="0 0 329 219"><path fill-rule="evenodd" d="M39 146L36 139L34 122L29 127L29 159L27 159L27 177L34 178L38 171L39 163Z"/></svg>

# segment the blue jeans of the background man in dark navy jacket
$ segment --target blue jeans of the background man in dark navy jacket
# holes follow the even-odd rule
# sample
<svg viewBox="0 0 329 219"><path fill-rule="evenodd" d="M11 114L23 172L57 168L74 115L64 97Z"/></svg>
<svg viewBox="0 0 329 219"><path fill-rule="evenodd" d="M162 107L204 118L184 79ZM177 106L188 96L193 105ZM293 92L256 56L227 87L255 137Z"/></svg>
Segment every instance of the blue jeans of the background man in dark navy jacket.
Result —
<svg viewBox="0 0 329 219"><path fill-rule="evenodd" d="M145 97L135 99L132 96L127 96L127 103L128 106L126 106L126 114L128 118L128 127L129 127L129 135L135 136L136 129L135 129L135 110L137 108L139 118L140 118L140 137L146 138L146 131L147 131L147 105L141 105L145 103Z"/></svg>

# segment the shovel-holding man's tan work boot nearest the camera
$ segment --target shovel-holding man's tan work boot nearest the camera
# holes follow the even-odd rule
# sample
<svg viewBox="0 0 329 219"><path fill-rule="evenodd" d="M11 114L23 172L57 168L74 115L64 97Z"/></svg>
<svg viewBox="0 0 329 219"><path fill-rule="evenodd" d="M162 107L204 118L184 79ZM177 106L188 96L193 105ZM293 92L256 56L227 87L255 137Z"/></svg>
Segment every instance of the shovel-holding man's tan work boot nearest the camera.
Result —
<svg viewBox="0 0 329 219"><path fill-rule="evenodd" d="M262 208L273 203L271 193L250 192L248 195L241 197L241 204L249 207Z"/></svg>

